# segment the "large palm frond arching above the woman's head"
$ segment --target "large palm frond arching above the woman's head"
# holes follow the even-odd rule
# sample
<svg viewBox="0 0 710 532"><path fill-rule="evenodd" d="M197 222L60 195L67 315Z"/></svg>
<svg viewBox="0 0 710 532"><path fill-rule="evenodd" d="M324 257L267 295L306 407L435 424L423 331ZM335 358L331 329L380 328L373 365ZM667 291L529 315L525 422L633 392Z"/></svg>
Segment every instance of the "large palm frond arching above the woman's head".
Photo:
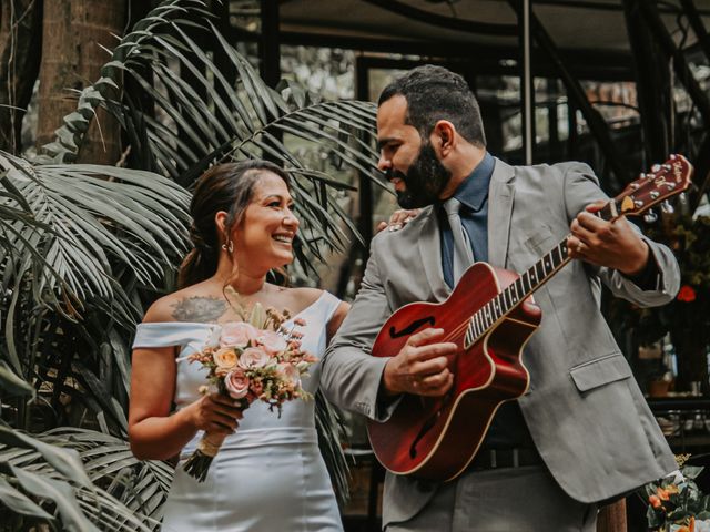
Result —
<svg viewBox="0 0 710 532"><path fill-rule="evenodd" d="M102 105L124 130L133 161L183 186L219 161L273 160L295 176L296 208L306 235L302 266L315 270L313 257L322 257L325 248L344 250L347 233L357 235L338 205L342 192L352 188L347 181L358 173L385 184L372 146L375 108L312 101L293 82L281 84L282 92L273 90L206 11L199 0L166 1L151 11L121 40L99 81L82 92L77 112L64 119L44 150L54 161L75 160L89 121ZM223 73L224 64L234 76ZM130 84L140 98L123 96L120 88ZM316 149L329 171L349 177L333 178L311 167L300 155L305 146Z"/></svg>

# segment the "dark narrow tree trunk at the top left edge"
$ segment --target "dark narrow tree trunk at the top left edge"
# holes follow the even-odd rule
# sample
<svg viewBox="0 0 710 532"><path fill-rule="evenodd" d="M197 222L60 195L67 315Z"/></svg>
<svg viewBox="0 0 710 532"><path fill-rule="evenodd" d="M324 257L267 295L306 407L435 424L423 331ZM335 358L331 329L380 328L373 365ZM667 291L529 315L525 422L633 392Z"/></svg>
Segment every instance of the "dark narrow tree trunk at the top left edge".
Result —
<svg viewBox="0 0 710 532"><path fill-rule="evenodd" d="M41 22L42 0L0 2L0 150L14 154L40 70Z"/></svg>

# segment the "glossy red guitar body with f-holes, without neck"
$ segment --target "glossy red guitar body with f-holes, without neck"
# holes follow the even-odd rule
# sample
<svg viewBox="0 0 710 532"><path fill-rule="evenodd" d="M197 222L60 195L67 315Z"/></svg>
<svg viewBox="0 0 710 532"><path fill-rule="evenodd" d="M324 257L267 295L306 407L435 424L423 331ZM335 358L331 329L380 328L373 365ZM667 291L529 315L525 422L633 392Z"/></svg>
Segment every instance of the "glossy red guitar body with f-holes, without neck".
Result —
<svg viewBox="0 0 710 532"><path fill-rule="evenodd" d="M387 421L368 421L375 456L393 473L436 481L456 478L474 459L498 407L527 390L529 376L520 354L541 319L531 300L464 347L470 316L516 278L513 272L476 263L448 299L406 305L381 329L373 345L376 357L395 356L412 335L428 327L444 329L446 341L459 347L449 357L454 386L446 396L404 395Z"/></svg>

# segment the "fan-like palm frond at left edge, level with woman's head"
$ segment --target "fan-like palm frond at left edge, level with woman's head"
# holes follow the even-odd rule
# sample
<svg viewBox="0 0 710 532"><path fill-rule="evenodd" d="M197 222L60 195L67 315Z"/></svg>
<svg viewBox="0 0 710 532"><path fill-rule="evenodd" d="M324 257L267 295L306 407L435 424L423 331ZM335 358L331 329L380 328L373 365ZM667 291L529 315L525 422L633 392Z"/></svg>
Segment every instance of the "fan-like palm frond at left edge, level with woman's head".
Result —
<svg viewBox="0 0 710 532"><path fill-rule="evenodd" d="M143 285L162 277L186 247L187 193L148 172L29 165L2 152L0 171L2 287L17 295L31 279L37 303L70 317L92 298L123 303L119 315L140 317L114 269L124 266Z"/></svg>

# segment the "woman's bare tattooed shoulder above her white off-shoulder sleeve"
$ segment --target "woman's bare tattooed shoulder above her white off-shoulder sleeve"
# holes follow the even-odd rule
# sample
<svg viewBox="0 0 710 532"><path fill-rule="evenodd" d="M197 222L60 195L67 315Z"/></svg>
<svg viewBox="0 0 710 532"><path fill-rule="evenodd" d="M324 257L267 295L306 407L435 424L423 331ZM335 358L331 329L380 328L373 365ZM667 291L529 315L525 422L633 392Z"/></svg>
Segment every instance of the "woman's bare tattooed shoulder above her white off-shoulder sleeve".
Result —
<svg viewBox="0 0 710 532"><path fill-rule="evenodd" d="M143 323L216 323L229 309L221 294L194 285L158 299L145 313Z"/></svg>

